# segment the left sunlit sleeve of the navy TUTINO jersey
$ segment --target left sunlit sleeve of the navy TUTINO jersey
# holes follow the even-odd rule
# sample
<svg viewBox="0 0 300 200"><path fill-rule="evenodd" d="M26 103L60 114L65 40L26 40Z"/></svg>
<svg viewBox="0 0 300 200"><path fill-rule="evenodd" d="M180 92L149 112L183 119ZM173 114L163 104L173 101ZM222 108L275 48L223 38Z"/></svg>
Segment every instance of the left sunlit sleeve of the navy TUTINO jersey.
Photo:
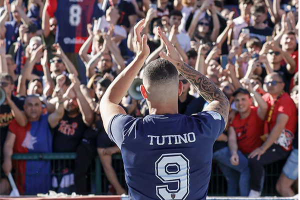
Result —
<svg viewBox="0 0 300 200"><path fill-rule="evenodd" d="M126 133L135 123L136 118L129 114L116 114L108 123L108 137L121 149Z"/></svg>

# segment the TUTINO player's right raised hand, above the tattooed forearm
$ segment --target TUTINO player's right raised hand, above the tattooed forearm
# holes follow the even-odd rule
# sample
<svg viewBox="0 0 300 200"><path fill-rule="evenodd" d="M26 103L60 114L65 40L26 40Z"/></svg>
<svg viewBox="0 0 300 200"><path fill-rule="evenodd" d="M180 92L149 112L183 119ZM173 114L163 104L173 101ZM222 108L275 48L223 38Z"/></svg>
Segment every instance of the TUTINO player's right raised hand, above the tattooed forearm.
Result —
<svg viewBox="0 0 300 200"><path fill-rule="evenodd" d="M183 63L183 61L180 59L179 55L177 54L175 47L167 39L164 32L162 32L162 30L159 26L157 27L157 31L158 31L159 36L162 38L162 41L165 44L165 48L166 48L166 54L164 52L160 51L159 56L164 59L167 59L168 61L172 62L174 64L174 66L178 67L178 65L180 65L180 63Z"/></svg>

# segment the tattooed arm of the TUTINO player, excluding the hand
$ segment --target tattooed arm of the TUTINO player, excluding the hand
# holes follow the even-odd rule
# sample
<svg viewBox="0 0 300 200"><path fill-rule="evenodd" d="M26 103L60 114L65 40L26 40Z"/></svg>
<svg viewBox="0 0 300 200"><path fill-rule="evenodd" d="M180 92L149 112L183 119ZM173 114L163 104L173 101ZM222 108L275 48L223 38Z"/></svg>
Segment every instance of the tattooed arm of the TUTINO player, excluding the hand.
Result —
<svg viewBox="0 0 300 200"><path fill-rule="evenodd" d="M177 62L178 71L192 86L209 102L205 110L214 110L222 115L225 124L228 121L229 100L225 94L205 75L195 70L185 62Z"/></svg>

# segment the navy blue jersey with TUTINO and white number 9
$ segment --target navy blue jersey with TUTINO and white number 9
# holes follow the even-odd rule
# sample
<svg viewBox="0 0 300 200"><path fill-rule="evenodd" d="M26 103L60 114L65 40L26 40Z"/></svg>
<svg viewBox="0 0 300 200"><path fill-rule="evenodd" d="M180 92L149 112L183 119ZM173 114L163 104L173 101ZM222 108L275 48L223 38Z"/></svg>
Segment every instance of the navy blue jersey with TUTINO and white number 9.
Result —
<svg viewBox="0 0 300 200"><path fill-rule="evenodd" d="M121 149L129 199L205 199L224 125L215 111L113 116L108 136Z"/></svg>

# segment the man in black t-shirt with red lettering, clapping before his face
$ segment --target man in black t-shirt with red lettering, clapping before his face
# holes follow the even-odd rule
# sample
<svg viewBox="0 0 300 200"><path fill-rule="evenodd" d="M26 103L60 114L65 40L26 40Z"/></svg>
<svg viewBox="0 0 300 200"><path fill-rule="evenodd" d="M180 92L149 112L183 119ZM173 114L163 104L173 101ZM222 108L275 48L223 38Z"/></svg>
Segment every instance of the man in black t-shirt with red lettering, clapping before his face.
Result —
<svg viewBox="0 0 300 200"><path fill-rule="evenodd" d="M64 94L64 112L55 119L53 129L53 152L76 152L83 132L93 122L93 111L80 91L80 82L73 74L69 75L72 81ZM62 160L64 161L64 160ZM58 187L58 192L69 193L74 191L74 162L60 164L56 162L54 173L62 174L62 177L53 177L53 188ZM64 181L66 180L66 181Z"/></svg>

